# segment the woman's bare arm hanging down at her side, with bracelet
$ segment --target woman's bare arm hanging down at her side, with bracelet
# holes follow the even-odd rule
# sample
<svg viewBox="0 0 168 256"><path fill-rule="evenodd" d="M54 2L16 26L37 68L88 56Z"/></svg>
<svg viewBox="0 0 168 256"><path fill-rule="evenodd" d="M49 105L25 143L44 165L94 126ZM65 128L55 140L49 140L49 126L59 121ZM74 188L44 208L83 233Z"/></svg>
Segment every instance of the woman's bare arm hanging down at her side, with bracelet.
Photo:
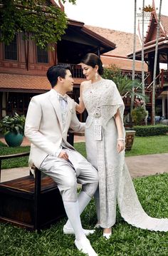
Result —
<svg viewBox="0 0 168 256"><path fill-rule="evenodd" d="M117 126L117 152L120 153L122 150L125 149L125 138L123 134L123 126L122 126L122 120L120 116L120 111L117 109L117 113L115 114L115 124Z"/></svg>

